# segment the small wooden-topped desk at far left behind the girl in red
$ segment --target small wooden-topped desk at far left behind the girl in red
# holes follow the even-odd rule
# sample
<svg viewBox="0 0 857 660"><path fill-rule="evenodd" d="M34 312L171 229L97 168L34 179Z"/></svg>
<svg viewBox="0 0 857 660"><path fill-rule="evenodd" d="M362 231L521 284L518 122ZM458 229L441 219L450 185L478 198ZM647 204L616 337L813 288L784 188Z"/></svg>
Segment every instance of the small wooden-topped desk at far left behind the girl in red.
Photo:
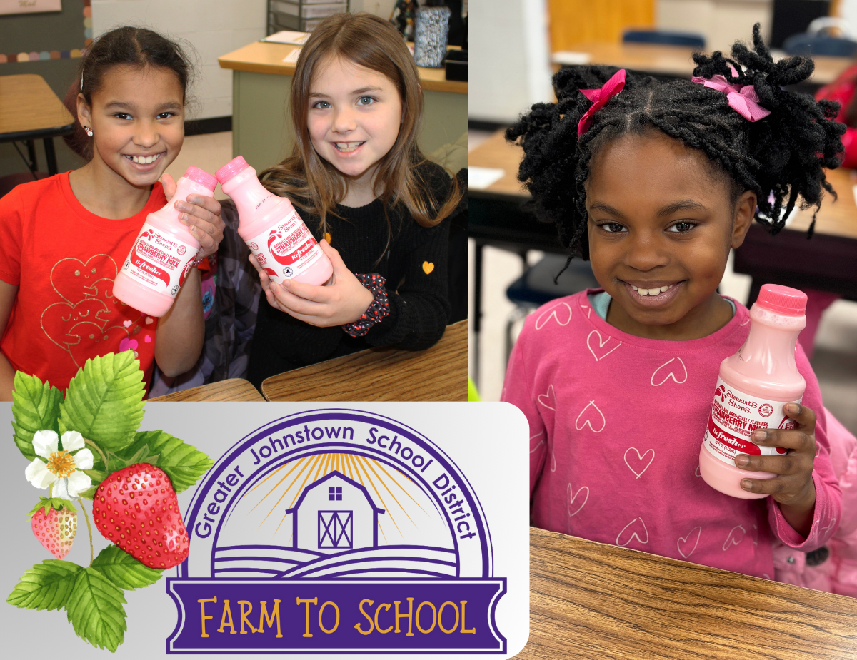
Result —
<svg viewBox="0 0 857 660"><path fill-rule="evenodd" d="M48 174L57 174L53 139L74 126L74 117L40 75L0 75L0 142L26 142L31 171L38 169L33 140L44 140Z"/></svg>

